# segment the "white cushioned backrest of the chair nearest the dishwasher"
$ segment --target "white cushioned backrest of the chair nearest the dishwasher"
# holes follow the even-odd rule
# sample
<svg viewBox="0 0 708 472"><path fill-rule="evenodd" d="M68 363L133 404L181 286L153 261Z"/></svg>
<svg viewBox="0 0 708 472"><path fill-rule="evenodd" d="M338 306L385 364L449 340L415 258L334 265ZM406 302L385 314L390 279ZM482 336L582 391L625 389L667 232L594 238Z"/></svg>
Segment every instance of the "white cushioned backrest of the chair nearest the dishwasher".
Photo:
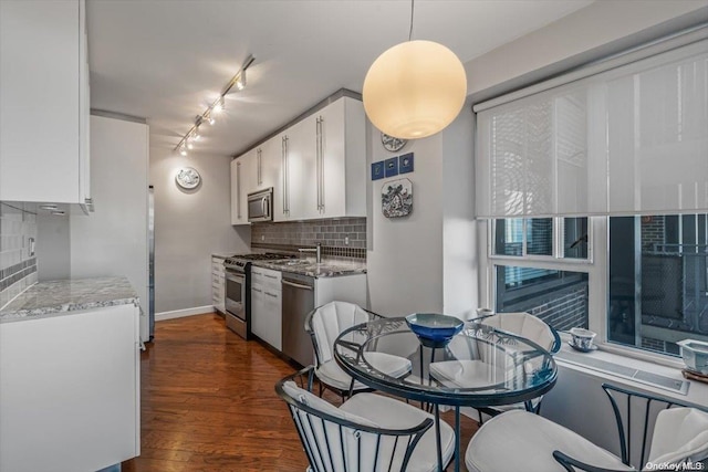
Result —
<svg viewBox="0 0 708 472"><path fill-rule="evenodd" d="M310 333L317 364L332 359L332 346L346 328L366 323L378 315L348 302L330 302L313 310L305 318L305 331Z"/></svg>

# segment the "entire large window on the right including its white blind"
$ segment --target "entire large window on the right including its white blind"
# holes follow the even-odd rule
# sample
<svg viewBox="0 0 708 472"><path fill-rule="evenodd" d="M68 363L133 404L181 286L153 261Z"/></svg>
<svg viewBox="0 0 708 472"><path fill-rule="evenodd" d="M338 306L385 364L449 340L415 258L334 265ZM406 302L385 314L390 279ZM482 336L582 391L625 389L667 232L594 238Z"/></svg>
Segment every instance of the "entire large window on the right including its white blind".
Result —
<svg viewBox="0 0 708 472"><path fill-rule="evenodd" d="M706 31L473 106L491 307L662 354L708 340Z"/></svg>

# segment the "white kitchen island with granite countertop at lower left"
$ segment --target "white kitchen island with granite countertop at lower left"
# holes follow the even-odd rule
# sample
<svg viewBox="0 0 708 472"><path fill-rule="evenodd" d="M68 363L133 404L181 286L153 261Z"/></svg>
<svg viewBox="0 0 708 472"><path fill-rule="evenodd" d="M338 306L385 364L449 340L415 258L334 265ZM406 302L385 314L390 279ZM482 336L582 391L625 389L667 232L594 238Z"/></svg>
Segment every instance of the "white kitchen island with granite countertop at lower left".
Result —
<svg viewBox="0 0 708 472"><path fill-rule="evenodd" d="M38 283L0 310L0 470L139 454L139 305L125 277Z"/></svg>

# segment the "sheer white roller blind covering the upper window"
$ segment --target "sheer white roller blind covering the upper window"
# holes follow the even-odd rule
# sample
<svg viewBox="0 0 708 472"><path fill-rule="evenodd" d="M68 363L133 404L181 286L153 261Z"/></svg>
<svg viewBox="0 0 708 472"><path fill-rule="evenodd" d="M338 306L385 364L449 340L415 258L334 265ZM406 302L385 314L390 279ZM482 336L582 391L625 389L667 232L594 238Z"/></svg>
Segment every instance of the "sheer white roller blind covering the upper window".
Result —
<svg viewBox="0 0 708 472"><path fill-rule="evenodd" d="M708 40L497 102L478 218L708 211Z"/></svg>

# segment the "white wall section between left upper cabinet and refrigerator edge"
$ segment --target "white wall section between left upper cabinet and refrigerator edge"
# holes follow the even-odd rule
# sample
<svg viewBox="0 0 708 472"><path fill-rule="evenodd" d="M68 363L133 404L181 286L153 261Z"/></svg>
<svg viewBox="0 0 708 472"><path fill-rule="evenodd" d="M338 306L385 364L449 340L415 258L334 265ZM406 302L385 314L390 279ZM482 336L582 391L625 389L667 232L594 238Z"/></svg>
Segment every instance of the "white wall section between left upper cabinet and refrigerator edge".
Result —
<svg viewBox="0 0 708 472"><path fill-rule="evenodd" d="M147 340L148 126L91 117L91 196L95 211L71 214L71 277L124 275L140 300Z"/></svg>

